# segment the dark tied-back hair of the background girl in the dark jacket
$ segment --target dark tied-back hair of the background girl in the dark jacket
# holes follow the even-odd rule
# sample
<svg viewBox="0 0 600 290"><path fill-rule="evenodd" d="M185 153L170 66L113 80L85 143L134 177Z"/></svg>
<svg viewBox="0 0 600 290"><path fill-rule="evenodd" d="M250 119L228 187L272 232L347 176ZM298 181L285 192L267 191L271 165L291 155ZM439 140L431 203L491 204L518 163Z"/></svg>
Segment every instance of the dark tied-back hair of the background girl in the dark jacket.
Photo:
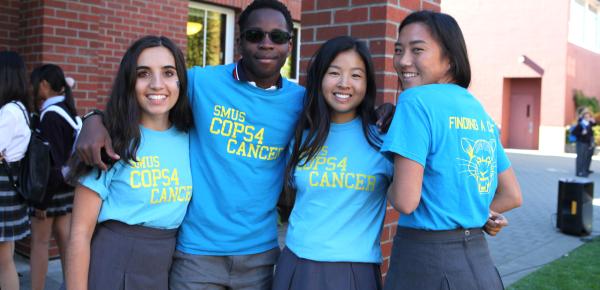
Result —
<svg viewBox="0 0 600 290"><path fill-rule="evenodd" d="M44 64L36 67L31 72L31 86L33 87L33 96L37 100L39 98L40 84L42 81L46 81L54 92L58 95L65 96L65 104L70 115L77 115L75 109L75 100L73 99L73 93L71 87L65 80L65 74L60 66L55 64ZM37 109L37 108L36 108Z"/></svg>

